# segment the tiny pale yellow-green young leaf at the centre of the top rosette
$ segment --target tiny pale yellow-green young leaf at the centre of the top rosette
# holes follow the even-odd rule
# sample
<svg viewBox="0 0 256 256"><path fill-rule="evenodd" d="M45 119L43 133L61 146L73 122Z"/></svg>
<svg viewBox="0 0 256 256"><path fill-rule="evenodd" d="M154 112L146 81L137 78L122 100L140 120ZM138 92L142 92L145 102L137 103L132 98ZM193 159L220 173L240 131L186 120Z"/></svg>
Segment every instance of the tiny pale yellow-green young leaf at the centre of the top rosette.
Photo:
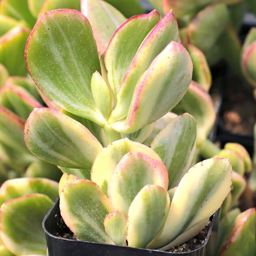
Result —
<svg viewBox="0 0 256 256"><path fill-rule="evenodd" d="M107 84L98 71L93 73L90 86L97 108L99 108L104 118L108 119L112 105L111 96Z"/></svg>

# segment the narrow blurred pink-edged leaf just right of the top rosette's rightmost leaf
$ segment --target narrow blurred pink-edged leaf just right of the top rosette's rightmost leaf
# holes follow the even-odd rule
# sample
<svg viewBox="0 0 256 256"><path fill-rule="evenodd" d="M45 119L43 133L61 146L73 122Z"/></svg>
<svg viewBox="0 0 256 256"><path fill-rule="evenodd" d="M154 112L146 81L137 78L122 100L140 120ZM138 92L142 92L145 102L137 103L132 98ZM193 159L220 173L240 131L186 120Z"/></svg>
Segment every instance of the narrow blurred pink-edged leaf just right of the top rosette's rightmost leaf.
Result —
<svg viewBox="0 0 256 256"><path fill-rule="evenodd" d="M192 79L207 92L211 87L211 71L204 54L194 45L187 45L187 50L193 62Z"/></svg>

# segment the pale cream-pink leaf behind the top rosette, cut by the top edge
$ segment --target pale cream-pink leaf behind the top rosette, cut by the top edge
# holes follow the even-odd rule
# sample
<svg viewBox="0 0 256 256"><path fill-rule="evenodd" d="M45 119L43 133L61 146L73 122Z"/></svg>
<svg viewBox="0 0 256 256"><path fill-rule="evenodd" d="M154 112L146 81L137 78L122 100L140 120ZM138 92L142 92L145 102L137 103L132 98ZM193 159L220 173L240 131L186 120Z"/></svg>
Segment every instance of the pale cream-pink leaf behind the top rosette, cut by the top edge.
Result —
<svg viewBox="0 0 256 256"><path fill-rule="evenodd" d="M114 32L126 21L125 16L102 0L82 0L81 11L93 28L99 55L105 52Z"/></svg>

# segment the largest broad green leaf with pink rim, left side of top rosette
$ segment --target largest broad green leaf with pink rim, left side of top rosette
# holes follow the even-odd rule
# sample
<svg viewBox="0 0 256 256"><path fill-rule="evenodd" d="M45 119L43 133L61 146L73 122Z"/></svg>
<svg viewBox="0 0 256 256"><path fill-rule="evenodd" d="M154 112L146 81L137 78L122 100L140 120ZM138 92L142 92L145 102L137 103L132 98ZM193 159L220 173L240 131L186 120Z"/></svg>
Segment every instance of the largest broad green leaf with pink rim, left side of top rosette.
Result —
<svg viewBox="0 0 256 256"><path fill-rule="evenodd" d="M70 9L45 13L28 38L25 59L30 75L50 101L99 125L105 123L90 90L100 64L84 15Z"/></svg>

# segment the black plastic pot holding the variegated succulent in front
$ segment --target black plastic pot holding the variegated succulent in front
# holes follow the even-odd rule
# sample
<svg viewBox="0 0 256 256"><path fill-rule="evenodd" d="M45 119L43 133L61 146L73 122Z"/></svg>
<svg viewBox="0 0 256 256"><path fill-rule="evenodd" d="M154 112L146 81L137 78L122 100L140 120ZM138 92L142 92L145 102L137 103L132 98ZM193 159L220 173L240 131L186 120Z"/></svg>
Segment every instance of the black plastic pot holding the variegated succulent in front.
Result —
<svg viewBox="0 0 256 256"><path fill-rule="evenodd" d="M56 236L57 221L60 219L59 198L57 198L43 219L43 229L47 244L48 256L210 256L215 249L217 213L213 215L205 243L197 250L183 253L163 252L86 241L64 239Z"/></svg>

